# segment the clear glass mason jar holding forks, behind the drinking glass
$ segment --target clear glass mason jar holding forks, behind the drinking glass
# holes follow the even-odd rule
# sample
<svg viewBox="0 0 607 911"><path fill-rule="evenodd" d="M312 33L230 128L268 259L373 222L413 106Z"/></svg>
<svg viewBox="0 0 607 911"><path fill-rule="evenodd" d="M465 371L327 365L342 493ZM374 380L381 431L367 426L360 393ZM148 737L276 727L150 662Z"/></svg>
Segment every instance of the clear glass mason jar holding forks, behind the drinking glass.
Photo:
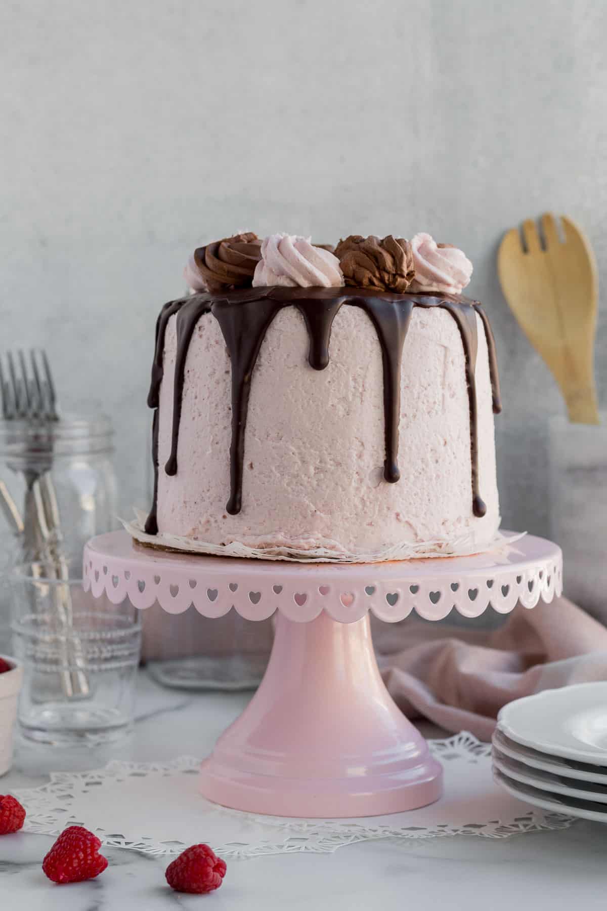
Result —
<svg viewBox="0 0 607 911"><path fill-rule="evenodd" d="M74 558L89 537L117 527L113 434L106 415L0 421L0 506L19 562L44 557L45 524Z"/></svg>

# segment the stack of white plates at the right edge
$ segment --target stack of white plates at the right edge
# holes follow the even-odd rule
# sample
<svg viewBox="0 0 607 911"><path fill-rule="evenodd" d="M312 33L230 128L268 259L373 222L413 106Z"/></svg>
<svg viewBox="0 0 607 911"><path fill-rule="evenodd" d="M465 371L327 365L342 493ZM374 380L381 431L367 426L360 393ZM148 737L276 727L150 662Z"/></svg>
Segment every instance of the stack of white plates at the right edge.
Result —
<svg viewBox="0 0 607 911"><path fill-rule="evenodd" d="M504 706L493 734L493 773L527 804L607 823L607 682Z"/></svg>

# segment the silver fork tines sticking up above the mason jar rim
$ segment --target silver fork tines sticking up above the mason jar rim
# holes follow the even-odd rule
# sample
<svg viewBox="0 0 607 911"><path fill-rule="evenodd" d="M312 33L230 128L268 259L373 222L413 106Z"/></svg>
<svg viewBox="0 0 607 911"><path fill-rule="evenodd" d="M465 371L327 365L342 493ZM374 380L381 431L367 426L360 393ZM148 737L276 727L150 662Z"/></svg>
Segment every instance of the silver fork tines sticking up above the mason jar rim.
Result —
<svg viewBox="0 0 607 911"><path fill-rule="evenodd" d="M58 419L55 384L46 352L32 348L0 354L0 399L5 421Z"/></svg>

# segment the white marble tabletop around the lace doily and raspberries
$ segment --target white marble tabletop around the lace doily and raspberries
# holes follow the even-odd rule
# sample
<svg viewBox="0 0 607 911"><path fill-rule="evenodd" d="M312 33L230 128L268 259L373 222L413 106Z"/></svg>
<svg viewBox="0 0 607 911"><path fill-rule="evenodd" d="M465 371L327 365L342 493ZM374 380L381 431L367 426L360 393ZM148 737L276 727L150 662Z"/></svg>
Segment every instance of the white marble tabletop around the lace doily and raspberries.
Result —
<svg viewBox="0 0 607 911"><path fill-rule="evenodd" d="M48 752L21 744L0 791L46 781L51 769L82 770L109 758L154 760L177 752L202 754L248 696L162 690L142 673L134 735L110 754ZM433 733L427 731L427 733ZM178 744L178 748L176 747ZM177 751L177 752L176 752ZM204 833L200 833L204 840ZM562 832L428 842L367 842L333 855L274 855L232 861L213 896L178 896L164 880L166 858L105 850L109 867L88 883L54 886L40 863L53 839L16 834L0 838L0 904L27 911L156 911L213 906L229 911L370 911L445 906L466 911L604 909L607 827L576 823Z"/></svg>

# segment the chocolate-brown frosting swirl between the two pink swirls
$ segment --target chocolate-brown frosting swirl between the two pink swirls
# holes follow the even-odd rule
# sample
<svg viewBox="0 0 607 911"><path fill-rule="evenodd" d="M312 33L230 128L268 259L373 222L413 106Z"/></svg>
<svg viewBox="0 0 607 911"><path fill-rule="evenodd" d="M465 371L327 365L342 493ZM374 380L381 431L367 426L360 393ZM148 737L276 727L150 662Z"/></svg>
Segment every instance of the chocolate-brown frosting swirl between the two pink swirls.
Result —
<svg viewBox="0 0 607 911"><path fill-rule="evenodd" d="M413 278L410 242L391 234L383 238L350 234L345 241L339 241L335 255L346 284L359 288L405 292Z"/></svg>

